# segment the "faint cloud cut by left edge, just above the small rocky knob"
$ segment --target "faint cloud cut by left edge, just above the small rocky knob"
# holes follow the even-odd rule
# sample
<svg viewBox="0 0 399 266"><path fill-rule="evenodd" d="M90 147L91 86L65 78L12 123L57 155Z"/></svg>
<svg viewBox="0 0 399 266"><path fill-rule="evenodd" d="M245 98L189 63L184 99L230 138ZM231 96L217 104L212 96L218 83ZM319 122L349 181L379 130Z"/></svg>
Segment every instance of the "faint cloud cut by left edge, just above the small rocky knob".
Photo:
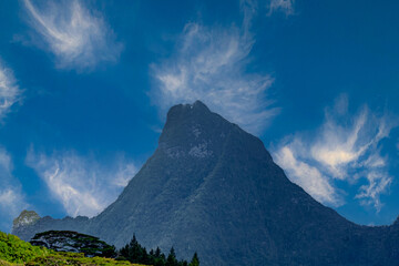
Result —
<svg viewBox="0 0 399 266"><path fill-rule="evenodd" d="M12 175L10 154L0 147L0 225L11 229L12 219L29 205L25 203L21 183Z"/></svg>

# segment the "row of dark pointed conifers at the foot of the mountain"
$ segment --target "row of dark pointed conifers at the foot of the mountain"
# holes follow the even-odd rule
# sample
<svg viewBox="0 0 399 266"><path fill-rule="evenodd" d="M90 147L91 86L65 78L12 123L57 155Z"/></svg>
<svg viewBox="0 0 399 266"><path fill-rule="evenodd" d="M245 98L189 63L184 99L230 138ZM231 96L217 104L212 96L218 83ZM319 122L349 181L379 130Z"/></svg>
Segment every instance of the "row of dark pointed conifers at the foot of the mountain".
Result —
<svg viewBox="0 0 399 266"><path fill-rule="evenodd" d="M198 255L195 253L191 263L177 260L174 248L172 247L167 257L157 247L155 250L146 252L145 247L139 244L135 235L132 241L119 250L121 259L127 259L131 263L139 263L154 266L200 266Z"/></svg>

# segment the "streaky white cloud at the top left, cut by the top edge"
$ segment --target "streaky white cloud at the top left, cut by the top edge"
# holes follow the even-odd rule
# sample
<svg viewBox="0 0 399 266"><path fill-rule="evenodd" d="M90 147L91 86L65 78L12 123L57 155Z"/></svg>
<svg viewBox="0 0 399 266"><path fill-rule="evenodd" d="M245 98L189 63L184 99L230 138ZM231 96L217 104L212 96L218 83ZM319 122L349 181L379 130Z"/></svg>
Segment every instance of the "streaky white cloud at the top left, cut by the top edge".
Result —
<svg viewBox="0 0 399 266"><path fill-rule="evenodd" d="M38 3L24 0L30 24L45 45L37 38L34 43L55 55L58 68L86 70L119 59L123 45L99 12L79 0Z"/></svg>

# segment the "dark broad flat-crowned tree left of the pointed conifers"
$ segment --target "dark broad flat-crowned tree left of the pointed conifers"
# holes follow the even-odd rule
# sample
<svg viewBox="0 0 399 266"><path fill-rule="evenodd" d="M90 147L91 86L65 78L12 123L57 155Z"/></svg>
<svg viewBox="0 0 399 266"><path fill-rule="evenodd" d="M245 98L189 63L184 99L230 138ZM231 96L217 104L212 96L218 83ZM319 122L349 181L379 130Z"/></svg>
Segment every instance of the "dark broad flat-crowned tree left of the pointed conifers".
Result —
<svg viewBox="0 0 399 266"><path fill-rule="evenodd" d="M86 257L114 257L115 248L98 237L71 231L48 231L35 234L30 241L34 246L43 246L55 252L84 253Z"/></svg>

